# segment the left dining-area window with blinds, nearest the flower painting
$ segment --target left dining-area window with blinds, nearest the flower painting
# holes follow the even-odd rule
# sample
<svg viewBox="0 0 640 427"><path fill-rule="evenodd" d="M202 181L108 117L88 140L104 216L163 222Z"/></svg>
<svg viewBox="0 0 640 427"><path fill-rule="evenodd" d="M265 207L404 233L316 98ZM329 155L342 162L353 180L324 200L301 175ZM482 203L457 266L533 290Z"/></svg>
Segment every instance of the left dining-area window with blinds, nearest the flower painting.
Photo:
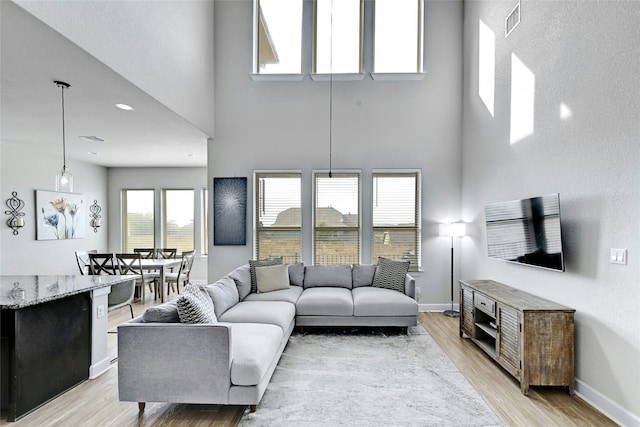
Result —
<svg viewBox="0 0 640 427"><path fill-rule="evenodd" d="M154 191L122 190L122 251L154 248Z"/></svg>

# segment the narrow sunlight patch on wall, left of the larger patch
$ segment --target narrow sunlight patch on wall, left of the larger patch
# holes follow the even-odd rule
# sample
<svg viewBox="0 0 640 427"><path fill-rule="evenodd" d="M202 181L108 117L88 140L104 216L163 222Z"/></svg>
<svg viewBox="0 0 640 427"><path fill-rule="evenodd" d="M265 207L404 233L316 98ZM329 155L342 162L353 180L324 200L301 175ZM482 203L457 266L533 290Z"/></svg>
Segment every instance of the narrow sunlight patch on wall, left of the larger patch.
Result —
<svg viewBox="0 0 640 427"><path fill-rule="evenodd" d="M478 95L493 117L496 86L496 35L481 19L478 21Z"/></svg>

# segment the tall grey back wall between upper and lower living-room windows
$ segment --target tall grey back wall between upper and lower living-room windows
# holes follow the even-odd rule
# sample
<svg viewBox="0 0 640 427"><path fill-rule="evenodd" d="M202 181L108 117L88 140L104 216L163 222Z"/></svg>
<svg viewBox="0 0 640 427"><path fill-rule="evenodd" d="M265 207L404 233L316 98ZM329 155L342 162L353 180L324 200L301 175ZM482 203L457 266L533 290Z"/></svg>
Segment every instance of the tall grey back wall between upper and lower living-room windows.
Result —
<svg viewBox="0 0 640 427"><path fill-rule="evenodd" d="M329 167L330 84L308 75L302 82L252 81L252 2L216 2L215 15L216 136L209 143L209 182L249 178L249 236L246 246L210 248L209 278L253 258L254 170L303 171L303 259L311 264L311 173ZM449 241L436 236L437 223L460 212L462 3L427 2L425 16L424 80L334 81L333 168L361 169L363 182L374 168L422 170L425 271L415 276L421 302L445 303ZM370 224L370 193L362 204L363 224ZM367 236L363 232L363 246Z"/></svg>

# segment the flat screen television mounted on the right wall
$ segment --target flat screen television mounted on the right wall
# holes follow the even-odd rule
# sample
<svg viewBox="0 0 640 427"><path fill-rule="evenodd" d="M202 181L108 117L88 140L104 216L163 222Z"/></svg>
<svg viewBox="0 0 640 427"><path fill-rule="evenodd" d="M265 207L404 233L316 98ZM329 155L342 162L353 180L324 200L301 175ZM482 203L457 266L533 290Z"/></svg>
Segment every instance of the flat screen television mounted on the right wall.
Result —
<svg viewBox="0 0 640 427"><path fill-rule="evenodd" d="M485 207L491 258L564 271L558 193Z"/></svg>

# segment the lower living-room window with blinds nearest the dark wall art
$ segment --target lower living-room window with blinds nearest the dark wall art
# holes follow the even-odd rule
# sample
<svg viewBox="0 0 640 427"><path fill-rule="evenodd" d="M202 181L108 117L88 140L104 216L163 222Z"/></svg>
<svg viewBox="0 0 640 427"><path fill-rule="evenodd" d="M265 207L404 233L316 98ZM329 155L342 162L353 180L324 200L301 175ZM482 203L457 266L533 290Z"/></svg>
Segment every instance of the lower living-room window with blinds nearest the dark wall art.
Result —
<svg viewBox="0 0 640 427"><path fill-rule="evenodd" d="M255 174L255 257L302 260L302 175L297 172Z"/></svg>

